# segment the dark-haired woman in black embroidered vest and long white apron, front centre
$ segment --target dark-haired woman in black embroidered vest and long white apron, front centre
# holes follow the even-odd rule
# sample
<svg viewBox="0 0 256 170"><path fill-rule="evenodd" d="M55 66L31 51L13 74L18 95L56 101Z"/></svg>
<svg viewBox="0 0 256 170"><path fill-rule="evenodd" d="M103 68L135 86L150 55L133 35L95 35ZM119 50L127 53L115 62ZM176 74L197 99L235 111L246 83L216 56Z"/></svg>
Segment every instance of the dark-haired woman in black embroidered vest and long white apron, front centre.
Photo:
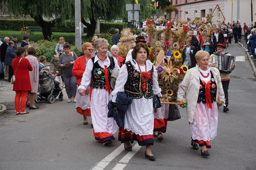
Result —
<svg viewBox="0 0 256 170"><path fill-rule="evenodd" d="M132 98L125 114L125 124L118 133L118 140L124 143L125 150L132 151L130 142L137 140L140 146L146 146L145 157L155 160L151 151L151 145L154 145L153 96L161 96L161 88L157 82L157 71L147 60L148 54L146 44L136 44L132 51L132 60L120 69L115 90L112 92L112 101L115 102L118 91L125 92Z"/></svg>

